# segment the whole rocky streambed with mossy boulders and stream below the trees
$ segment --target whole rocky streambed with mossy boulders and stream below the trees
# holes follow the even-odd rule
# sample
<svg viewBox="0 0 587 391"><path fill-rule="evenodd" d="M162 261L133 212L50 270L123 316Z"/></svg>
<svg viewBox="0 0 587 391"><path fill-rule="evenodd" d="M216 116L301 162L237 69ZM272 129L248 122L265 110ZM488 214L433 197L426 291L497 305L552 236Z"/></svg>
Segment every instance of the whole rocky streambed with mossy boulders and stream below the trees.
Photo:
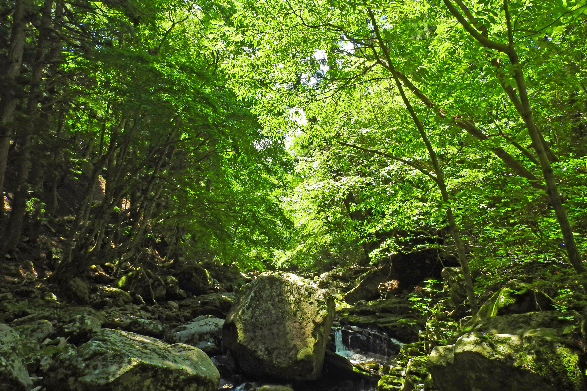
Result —
<svg viewBox="0 0 587 391"><path fill-rule="evenodd" d="M114 283L128 291L77 278L67 304L35 281L2 285L1 389L585 389L586 314L554 311L520 281L434 347L430 319L462 306L458 270L443 271L452 277L427 322L391 283L265 273L238 290L190 273ZM335 302L345 291L352 305Z"/></svg>

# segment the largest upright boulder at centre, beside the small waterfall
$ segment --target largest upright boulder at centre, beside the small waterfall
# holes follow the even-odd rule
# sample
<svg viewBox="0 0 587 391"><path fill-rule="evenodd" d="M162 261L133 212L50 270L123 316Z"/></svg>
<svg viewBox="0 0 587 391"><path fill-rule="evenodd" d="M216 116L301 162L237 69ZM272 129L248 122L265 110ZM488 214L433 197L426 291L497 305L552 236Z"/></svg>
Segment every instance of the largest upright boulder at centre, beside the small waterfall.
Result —
<svg viewBox="0 0 587 391"><path fill-rule="evenodd" d="M295 274L262 274L228 312L224 346L246 373L316 379L322 373L334 312L327 291Z"/></svg>

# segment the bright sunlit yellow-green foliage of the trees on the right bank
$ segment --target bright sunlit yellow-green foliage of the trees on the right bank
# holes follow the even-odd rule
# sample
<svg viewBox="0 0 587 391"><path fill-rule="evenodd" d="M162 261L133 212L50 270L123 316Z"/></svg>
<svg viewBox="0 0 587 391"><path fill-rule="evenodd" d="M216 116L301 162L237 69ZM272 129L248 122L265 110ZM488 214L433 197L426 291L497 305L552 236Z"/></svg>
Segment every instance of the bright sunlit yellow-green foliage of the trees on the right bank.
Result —
<svg viewBox="0 0 587 391"><path fill-rule="evenodd" d="M534 257L569 261L541 183L548 167L516 106L517 65L485 47L484 37L517 50L562 210L585 259L587 5L467 2L457 8L480 41L450 4L456 3L235 5L237 26L255 38L254 47L223 65L228 85L254 102L266 132L289 134L297 162L294 196L284 200L299 233L291 250L279 254L280 264L313 264L308 257L318 264L356 261L356 254L340 254L361 243L371 261L384 259L413 249L417 240L403 239L410 235L441 237L454 248L446 235L448 207L473 268L497 270ZM433 162L394 75L437 154L448 203L426 175Z"/></svg>

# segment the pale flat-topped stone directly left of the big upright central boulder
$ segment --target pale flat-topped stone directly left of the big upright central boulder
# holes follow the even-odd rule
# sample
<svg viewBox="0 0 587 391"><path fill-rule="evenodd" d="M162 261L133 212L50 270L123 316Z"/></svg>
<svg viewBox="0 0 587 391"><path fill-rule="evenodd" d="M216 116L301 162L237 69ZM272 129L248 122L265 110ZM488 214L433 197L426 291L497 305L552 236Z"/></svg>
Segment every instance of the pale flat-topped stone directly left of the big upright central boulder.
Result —
<svg viewBox="0 0 587 391"><path fill-rule="evenodd" d="M195 346L214 356L221 353L217 341L222 337L223 324L224 319L193 319L171 330L167 342Z"/></svg>

